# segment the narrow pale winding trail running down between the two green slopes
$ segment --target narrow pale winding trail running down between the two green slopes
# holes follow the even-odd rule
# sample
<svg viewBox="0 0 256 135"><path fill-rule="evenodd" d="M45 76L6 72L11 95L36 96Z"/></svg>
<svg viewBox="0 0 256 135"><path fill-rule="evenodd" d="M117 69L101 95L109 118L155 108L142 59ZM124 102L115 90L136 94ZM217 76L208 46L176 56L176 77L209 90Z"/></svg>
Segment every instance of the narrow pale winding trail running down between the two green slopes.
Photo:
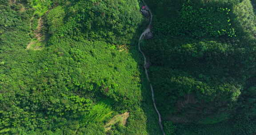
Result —
<svg viewBox="0 0 256 135"><path fill-rule="evenodd" d="M147 6L147 7L148 7L148 5L144 2L144 0L142 0L142 1L143 1L143 3L145 4L145 6ZM151 89L151 93L152 93L152 100L153 100L154 108L155 108L155 110L156 110L156 112L157 112L157 114L158 114L158 120L159 120L159 121L158 121L158 123L159 123L159 125L160 125L160 128L161 128L161 131L162 131L163 135L165 135L165 133L164 133L164 129L163 129L163 125L162 125L161 115L160 115L160 113L159 113L159 111L158 111L158 109L157 109L157 107L156 107L156 103L155 103L154 89L153 89L153 87L152 87L152 83L150 82L150 79L149 79L149 77L148 77L148 70L147 70L147 68L146 68L146 65L147 65L147 59L146 59L146 56L145 56L144 52L142 52L142 51L141 51L141 49L140 49L140 41L142 40L143 36L145 36L145 34L147 34L148 32L150 32L150 26L151 26L151 24L152 24L152 18L153 18L153 15L152 15L152 12L150 11L150 9L149 9L149 8L148 8L148 11L149 11L149 13L150 13L150 22L149 22L149 24L148 24L148 28L147 28L147 29L145 29L145 30L144 30L144 32L140 35L140 39L139 39L139 43L138 43L138 47L139 47L139 51L140 51L140 53L142 54L142 56L143 56L143 58L144 58L144 69L145 69L145 74L146 74L147 79L148 79L148 82L149 82L149 84L150 84L150 89Z"/></svg>

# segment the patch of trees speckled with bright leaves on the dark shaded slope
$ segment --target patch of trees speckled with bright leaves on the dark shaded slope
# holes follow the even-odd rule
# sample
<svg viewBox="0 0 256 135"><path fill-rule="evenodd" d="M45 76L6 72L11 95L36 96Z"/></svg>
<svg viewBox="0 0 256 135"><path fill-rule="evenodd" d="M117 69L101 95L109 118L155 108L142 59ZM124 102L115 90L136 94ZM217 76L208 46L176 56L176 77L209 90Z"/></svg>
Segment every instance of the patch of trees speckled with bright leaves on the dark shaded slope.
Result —
<svg viewBox="0 0 256 135"><path fill-rule="evenodd" d="M190 4L183 4L180 11L182 19L180 25L181 33L193 37L204 36L236 36L234 28L231 28L229 17L230 9L222 7L198 8Z"/></svg>

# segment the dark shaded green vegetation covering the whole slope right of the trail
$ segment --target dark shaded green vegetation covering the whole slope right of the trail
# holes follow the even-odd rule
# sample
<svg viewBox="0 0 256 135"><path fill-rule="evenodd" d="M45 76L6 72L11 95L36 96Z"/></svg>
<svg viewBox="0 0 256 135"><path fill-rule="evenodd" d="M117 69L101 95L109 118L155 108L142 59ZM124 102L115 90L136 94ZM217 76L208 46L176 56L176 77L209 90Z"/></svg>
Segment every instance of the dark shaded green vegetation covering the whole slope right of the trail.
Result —
<svg viewBox="0 0 256 135"><path fill-rule="evenodd" d="M256 134L255 0L148 0L143 51L168 135Z"/></svg>

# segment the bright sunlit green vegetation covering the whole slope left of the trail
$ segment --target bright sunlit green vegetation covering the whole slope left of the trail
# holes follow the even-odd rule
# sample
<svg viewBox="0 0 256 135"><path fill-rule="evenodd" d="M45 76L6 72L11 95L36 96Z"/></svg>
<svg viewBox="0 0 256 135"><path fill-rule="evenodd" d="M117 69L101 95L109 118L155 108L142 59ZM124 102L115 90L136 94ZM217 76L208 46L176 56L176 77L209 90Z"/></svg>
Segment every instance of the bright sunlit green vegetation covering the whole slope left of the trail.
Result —
<svg viewBox="0 0 256 135"><path fill-rule="evenodd" d="M0 135L160 135L142 21L137 0L0 0ZM37 22L46 46L27 50Z"/></svg>

